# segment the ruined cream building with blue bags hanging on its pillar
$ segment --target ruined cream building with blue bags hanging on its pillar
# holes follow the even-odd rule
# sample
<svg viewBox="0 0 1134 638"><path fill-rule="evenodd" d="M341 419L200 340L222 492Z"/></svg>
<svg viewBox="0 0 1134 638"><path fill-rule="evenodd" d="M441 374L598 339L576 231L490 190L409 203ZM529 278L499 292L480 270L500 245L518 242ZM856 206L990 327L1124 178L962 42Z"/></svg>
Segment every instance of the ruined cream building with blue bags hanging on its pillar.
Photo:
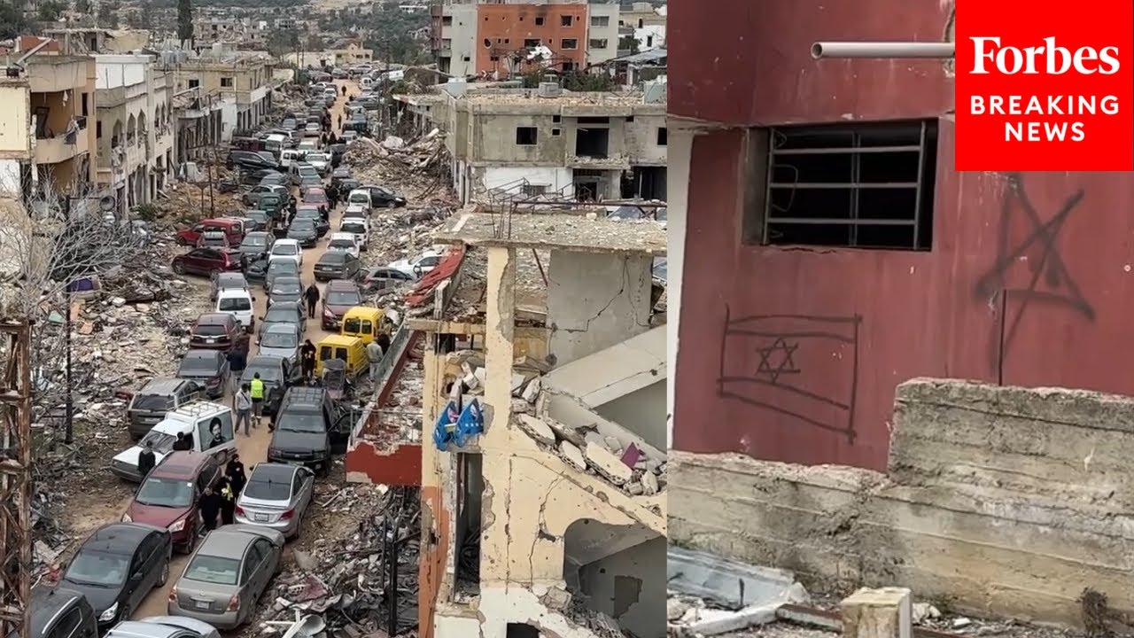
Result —
<svg viewBox="0 0 1134 638"><path fill-rule="evenodd" d="M452 289L429 297L446 301L408 320L425 334L432 438L423 637L666 633L665 452L582 400L561 409L551 387L567 386L553 370L652 331L650 265L665 229L567 217L514 216L502 240L490 216L467 213L434 237L467 247ZM611 271L626 280L601 276Z"/></svg>

